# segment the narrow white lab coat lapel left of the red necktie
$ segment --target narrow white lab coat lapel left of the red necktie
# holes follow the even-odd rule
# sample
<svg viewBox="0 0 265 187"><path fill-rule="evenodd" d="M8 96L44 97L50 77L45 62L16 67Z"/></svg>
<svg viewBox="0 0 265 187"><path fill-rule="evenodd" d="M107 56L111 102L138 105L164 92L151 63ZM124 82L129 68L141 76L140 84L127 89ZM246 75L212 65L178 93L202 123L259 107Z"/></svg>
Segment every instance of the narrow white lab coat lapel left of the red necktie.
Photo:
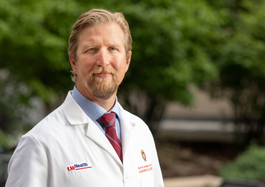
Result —
<svg viewBox="0 0 265 187"><path fill-rule="evenodd" d="M89 118L86 117L88 121L86 137L94 141L98 146L102 147L107 151L111 157L119 164L120 167L123 167L117 153L115 152L113 146L109 140L104 136L98 126Z"/></svg>

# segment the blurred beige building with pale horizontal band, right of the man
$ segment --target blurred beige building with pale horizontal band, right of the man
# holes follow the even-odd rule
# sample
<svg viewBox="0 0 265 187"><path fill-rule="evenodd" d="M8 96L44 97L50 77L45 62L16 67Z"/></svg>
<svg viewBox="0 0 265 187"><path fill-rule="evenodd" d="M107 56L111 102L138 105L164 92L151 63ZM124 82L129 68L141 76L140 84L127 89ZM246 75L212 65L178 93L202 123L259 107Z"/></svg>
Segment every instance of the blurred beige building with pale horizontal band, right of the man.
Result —
<svg viewBox="0 0 265 187"><path fill-rule="evenodd" d="M212 99L207 92L190 87L192 106L169 103L160 124L161 136L185 141L234 141L232 105Z"/></svg>

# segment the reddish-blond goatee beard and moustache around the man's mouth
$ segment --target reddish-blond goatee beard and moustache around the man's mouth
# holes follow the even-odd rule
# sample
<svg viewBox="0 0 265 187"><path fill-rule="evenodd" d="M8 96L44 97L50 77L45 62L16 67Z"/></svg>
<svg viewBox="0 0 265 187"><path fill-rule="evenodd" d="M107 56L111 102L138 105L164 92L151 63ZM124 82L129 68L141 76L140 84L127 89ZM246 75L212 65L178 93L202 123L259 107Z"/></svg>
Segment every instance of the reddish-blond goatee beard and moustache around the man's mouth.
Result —
<svg viewBox="0 0 265 187"><path fill-rule="evenodd" d="M109 77L94 77L94 74L100 72L111 73L112 81L108 81L108 79L110 79ZM88 89L90 90L92 96L102 100L110 99L113 94L115 94L119 86L116 71L107 67L99 67L97 69L91 70L90 73L87 75L86 80Z"/></svg>

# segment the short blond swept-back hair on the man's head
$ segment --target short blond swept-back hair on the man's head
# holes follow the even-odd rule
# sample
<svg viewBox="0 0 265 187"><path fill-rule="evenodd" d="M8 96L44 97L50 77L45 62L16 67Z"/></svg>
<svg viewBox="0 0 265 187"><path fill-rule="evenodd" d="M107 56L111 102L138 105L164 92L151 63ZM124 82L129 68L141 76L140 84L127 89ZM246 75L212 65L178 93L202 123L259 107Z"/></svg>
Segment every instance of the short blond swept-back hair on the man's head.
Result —
<svg viewBox="0 0 265 187"><path fill-rule="evenodd" d="M110 12L104 9L92 9L88 12L82 13L77 22L73 25L69 37L68 53L74 54L74 61L77 61L78 36L84 26L96 26L105 23L116 23L120 26L125 34L124 44L126 51L126 60L129 59L129 51L132 50L132 36L129 25L121 12ZM72 70L72 81L77 82L77 74Z"/></svg>

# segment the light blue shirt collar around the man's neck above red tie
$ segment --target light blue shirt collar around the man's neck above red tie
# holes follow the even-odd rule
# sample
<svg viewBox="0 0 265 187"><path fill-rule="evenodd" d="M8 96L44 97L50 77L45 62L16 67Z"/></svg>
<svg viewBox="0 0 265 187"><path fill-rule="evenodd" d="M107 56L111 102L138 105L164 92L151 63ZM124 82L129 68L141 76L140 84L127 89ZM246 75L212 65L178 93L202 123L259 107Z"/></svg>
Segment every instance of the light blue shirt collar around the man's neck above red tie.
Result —
<svg viewBox="0 0 265 187"><path fill-rule="evenodd" d="M82 94L80 94L80 92L76 89L76 85L74 86L72 97L92 121L96 121L103 114L108 113L107 110L96 103L93 103L89 99L86 99ZM115 104L109 113L111 112L114 112L116 114L116 118L119 119L119 106L117 97L115 99Z"/></svg>

